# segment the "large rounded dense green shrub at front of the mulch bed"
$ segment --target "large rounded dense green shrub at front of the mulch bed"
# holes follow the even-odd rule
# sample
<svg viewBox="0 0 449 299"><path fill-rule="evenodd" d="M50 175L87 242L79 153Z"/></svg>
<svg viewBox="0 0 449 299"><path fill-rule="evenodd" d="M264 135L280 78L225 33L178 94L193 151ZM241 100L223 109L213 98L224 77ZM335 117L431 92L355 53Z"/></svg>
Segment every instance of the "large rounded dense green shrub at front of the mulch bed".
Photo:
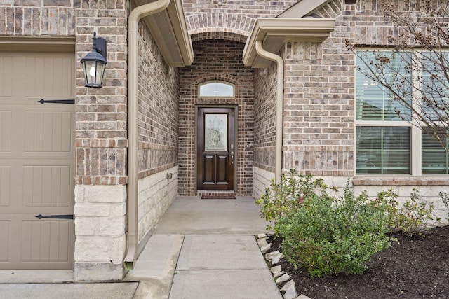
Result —
<svg viewBox="0 0 449 299"><path fill-rule="evenodd" d="M349 186L338 198L308 193L296 209L276 219L283 255L313 277L361 274L371 256L389 246L386 208L366 193L354 198Z"/></svg>

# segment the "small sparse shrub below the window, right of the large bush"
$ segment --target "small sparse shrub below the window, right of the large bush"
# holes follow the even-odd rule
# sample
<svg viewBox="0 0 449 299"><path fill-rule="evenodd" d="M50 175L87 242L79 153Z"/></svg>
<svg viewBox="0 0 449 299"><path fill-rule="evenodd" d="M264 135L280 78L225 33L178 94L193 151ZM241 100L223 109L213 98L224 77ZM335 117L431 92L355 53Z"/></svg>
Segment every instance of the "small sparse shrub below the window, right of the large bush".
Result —
<svg viewBox="0 0 449 299"><path fill-rule="evenodd" d="M397 197L392 188L377 195L380 202L387 204L390 231L401 232L408 237L422 235L429 221L434 220L434 203L422 200L417 188L413 188L410 200L406 200L402 206L399 205ZM441 219L436 217L436 221Z"/></svg>

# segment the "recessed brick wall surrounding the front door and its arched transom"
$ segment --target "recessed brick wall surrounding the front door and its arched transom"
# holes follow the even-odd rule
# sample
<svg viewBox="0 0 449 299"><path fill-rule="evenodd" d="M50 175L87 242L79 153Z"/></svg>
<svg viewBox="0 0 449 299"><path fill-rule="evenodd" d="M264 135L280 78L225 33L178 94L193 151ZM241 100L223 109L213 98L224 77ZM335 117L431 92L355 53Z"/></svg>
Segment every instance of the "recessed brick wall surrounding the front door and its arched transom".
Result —
<svg viewBox="0 0 449 299"><path fill-rule="evenodd" d="M195 105L238 106L236 144L237 195L252 194L253 177L253 70L241 62L243 43L225 40L194 42L195 60L180 75L179 193L195 194ZM198 85L226 81L236 86L235 99L199 99Z"/></svg>

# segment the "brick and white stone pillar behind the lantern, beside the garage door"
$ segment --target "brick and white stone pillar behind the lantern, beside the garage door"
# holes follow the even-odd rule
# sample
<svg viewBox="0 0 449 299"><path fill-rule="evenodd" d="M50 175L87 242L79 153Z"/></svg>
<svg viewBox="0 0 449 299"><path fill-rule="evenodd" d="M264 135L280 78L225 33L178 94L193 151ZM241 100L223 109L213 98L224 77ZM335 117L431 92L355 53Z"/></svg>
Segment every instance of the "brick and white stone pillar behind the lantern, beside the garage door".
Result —
<svg viewBox="0 0 449 299"><path fill-rule="evenodd" d="M129 5L90 0L76 11L76 280L121 279L124 273ZM94 31L107 40L108 62L103 87L85 88L79 61L91 51Z"/></svg>

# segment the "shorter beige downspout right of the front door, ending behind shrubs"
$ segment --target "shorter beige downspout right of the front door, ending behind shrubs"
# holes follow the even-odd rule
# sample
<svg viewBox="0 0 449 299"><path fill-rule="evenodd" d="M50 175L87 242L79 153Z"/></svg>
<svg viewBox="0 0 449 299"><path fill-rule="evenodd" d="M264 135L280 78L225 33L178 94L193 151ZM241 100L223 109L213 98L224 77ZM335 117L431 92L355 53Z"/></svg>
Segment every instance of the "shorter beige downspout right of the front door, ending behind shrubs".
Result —
<svg viewBox="0 0 449 299"><path fill-rule="evenodd" d="M278 67L276 83L276 160L274 164L274 181L281 183L282 176L282 130L283 130L283 59L281 56L262 48L262 41L255 41L255 50L260 57L276 62Z"/></svg>

